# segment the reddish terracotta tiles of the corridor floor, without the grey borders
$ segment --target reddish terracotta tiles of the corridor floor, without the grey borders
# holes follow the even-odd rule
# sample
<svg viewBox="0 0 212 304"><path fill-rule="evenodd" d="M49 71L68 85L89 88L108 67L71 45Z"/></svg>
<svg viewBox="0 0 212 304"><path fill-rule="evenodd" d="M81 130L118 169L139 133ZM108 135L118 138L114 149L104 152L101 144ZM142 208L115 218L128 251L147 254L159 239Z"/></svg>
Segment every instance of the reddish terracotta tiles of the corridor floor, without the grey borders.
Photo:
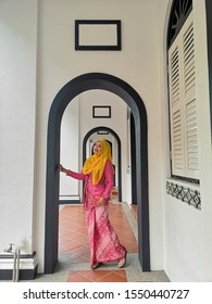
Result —
<svg viewBox="0 0 212 304"><path fill-rule="evenodd" d="M110 203L109 216L121 243L128 254L137 253L138 245L122 204ZM123 225L124 224L124 225ZM88 235L83 205L66 205L60 212L59 251L70 255L72 263L89 263ZM62 259L62 256L61 256ZM124 269L107 269L116 263L104 263L96 270L70 270L67 281L126 282Z"/></svg>

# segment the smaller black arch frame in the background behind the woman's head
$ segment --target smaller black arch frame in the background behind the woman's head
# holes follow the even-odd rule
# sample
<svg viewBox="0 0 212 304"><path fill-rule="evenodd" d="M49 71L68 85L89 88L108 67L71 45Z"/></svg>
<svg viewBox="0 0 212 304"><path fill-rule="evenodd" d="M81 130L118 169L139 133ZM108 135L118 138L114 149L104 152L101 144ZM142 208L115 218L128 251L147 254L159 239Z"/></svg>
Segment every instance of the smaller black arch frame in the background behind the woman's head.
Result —
<svg viewBox="0 0 212 304"><path fill-rule="evenodd" d="M86 160L86 143L87 143L87 140L88 138L97 132L97 131L101 131L101 130L107 130L109 131L116 140L117 142L117 166L119 166L119 201L122 202L122 153L121 153L121 140L120 140L120 137L117 136L117 134L112 130L111 128L109 127L103 127L103 126L99 126L99 127L96 127L91 130L89 130L86 136L84 137L84 141L83 141L83 162L85 162Z"/></svg>

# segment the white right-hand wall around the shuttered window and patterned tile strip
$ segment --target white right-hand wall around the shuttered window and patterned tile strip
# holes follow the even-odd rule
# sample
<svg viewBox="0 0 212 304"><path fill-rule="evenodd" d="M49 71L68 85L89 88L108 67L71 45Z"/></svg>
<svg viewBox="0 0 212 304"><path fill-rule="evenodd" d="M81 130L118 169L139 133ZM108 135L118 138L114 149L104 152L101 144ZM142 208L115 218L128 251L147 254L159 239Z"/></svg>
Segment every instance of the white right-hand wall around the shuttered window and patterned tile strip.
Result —
<svg viewBox="0 0 212 304"><path fill-rule="evenodd" d="M197 48L197 101L198 101L198 128L200 147L200 187L187 182L178 182L184 187L200 191L201 211L167 195L164 189L164 269L172 281L212 281L212 243L209 241L212 231L212 155L209 110L209 83L207 67L207 40L204 1L194 1L195 43ZM165 50L166 33L163 34L163 49ZM166 58L163 56L163 65ZM165 72L165 71L163 71ZM163 73L162 79L165 79ZM162 80L161 87L164 87ZM169 134L166 91L163 109L163 142L164 176L170 177L169 164ZM170 181L176 182L172 179Z"/></svg>

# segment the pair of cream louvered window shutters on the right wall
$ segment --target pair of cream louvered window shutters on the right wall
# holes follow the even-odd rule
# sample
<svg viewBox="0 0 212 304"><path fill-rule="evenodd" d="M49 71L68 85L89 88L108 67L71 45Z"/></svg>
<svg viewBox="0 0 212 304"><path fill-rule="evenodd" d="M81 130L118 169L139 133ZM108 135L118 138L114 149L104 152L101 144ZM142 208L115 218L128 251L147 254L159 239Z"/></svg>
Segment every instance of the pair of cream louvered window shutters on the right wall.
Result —
<svg viewBox="0 0 212 304"><path fill-rule="evenodd" d="M192 14L169 50L172 174L199 178Z"/></svg>

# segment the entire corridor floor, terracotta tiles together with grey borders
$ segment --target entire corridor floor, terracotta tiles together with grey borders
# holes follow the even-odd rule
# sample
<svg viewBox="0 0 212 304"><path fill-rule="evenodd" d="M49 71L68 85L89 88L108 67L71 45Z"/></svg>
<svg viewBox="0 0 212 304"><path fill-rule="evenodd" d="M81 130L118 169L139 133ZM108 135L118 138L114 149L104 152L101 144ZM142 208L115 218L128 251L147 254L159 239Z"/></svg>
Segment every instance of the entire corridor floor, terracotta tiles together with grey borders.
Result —
<svg viewBox="0 0 212 304"><path fill-rule="evenodd" d="M53 275L39 275L35 281L52 282L140 282L169 281L164 271L142 273L138 262L137 208L110 202L109 218L121 243L127 249L127 263L116 262L90 269L86 217L83 205L62 205L59 218L59 263Z"/></svg>

